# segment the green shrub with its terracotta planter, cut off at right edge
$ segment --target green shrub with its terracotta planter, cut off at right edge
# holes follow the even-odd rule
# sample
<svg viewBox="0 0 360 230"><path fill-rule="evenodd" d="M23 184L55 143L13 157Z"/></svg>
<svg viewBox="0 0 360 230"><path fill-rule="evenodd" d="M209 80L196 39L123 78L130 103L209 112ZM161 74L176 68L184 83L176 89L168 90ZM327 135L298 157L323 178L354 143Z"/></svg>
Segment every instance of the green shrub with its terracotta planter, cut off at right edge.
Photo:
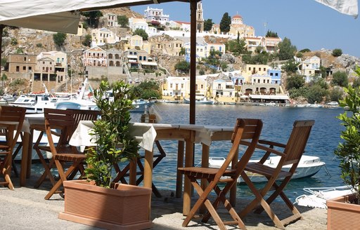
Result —
<svg viewBox="0 0 360 230"><path fill-rule="evenodd" d="M360 67L356 67L360 76ZM341 177L353 189L353 194L327 201L328 229L360 229L360 87L344 88L347 96L340 100L344 113L338 116L345 127L342 143L335 149L340 160Z"/></svg>

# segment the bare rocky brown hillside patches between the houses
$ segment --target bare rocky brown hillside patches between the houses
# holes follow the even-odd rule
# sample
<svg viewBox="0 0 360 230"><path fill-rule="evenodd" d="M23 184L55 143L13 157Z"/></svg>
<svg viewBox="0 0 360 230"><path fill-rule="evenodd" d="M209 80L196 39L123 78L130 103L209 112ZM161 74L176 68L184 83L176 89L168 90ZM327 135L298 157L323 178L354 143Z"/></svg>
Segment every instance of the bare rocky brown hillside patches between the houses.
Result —
<svg viewBox="0 0 360 230"><path fill-rule="evenodd" d="M129 7L103 10L102 12L103 14L115 13L116 15L126 15L128 18L143 17L143 15L131 11ZM89 30L86 33L89 34ZM77 73L82 72L83 71L82 62L81 62L82 50L88 48L82 45L83 37L76 36L74 34L68 34L64 46L57 47L53 42L53 34L54 34L53 32L39 31L39 30L26 29L26 28L8 29L8 36L5 36L3 39L4 51L2 57L4 58L10 53L17 53L19 50L22 50L23 53L34 54L34 55L51 50L60 50L65 53L72 53L72 59L75 60L75 62L72 63L72 68L75 69ZM14 40L16 42L13 42ZM205 37L205 41L212 43L225 43L227 39L221 39L214 36L207 36ZM182 60L183 57L172 57L161 53L161 51L159 52L159 50L157 50L156 53L152 53L152 55L157 57L158 64L160 65L160 67L166 68L172 76L176 76L174 65L176 64L176 62L179 62L179 60ZM231 68L241 69L243 67L243 63L241 62L240 57L233 57L233 55L231 54L226 54L226 55L230 56L231 59L233 60L232 64L230 65ZM324 50L324 49L314 50L308 53L304 53L302 59L305 59L307 57L312 57L313 55L321 57L322 66L333 67L335 69L340 69L347 72L351 72L351 69L354 67L354 65L356 65L356 63L360 63L360 59L358 57L352 57L346 54L340 57L333 57L333 55L331 55L331 50ZM24 83L20 86L20 88L9 89L9 91L18 92L22 90L26 92L28 90L27 88L29 88L29 84L30 83Z"/></svg>

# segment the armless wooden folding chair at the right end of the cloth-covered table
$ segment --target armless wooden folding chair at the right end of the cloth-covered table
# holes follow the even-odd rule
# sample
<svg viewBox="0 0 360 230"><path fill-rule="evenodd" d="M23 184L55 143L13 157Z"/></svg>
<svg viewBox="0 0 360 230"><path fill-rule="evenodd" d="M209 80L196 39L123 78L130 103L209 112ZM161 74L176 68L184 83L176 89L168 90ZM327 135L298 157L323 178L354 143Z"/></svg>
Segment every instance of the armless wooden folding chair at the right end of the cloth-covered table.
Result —
<svg viewBox="0 0 360 230"><path fill-rule="evenodd" d="M240 173L243 172L245 165L248 163L252 154L254 153L261 130L261 120L237 119L236 126L233 130L233 135L231 138L233 145L229 151L228 156L226 157L226 160L224 161L223 165L221 165L221 168L186 167L178 169L179 172L186 175L186 177L191 180L191 184L193 184L193 187L200 196L195 205L193 205L193 208L191 208L182 226L187 226L195 215L195 212L197 212L200 206L204 204L208 213L203 217L202 222L207 222L207 220L212 217L220 229L226 229L225 224L237 224L241 229L245 229L245 224L233 209L231 203L227 200L226 194L230 191L231 187L236 185ZM246 149L240 160L237 161L238 146L241 140L250 140L251 144ZM230 163L231 168L229 168ZM199 184L201 179L205 179L207 182L209 182L205 189L202 189ZM218 186L219 182L226 183L223 189L220 189ZM210 196L210 192L212 190L214 190L217 194L217 198L214 200L214 203L211 203L208 197ZM217 208L220 202L224 203L224 206L226 210L229 211L233 221L223 222L219 217Z"/></svg>

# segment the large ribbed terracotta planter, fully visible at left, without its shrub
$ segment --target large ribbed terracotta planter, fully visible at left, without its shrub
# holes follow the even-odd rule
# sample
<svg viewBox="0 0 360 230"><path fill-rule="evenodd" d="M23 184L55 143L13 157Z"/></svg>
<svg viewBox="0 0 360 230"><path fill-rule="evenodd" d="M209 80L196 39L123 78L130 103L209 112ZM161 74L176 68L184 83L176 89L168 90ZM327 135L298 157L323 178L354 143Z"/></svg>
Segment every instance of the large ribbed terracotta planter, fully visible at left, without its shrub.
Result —
<svg viewBox="0 0 360 230"><path fill-rule="evenodd" d="M103 229L148 229L151 189L115 184L97 187L86 180L65 181L65 212L59 218Z"/></svg>

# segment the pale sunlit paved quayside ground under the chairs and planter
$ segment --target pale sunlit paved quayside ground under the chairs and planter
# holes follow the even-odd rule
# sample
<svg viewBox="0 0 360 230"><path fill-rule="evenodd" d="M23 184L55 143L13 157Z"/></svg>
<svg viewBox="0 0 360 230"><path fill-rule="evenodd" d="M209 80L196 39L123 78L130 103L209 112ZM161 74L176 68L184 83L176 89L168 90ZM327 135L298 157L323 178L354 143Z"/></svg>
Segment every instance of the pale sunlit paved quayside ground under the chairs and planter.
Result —
<svg viewBox="0 0 360 230"><path fill-rule="evenodd" d="M0 203L3 210L0 217L1 229L98 229L58 219L58 213L63 211L63 198L61 198L58 194L55 194L51 200L44 200L44 196L49 188L40 187L39 189L33 189L33 184L36 179L37 178L32 178L32 180L29 180L26 187L18 187L18 179L14 178L14 191L0 187ZM184 216L181 214L182 198L174 198L172 196L172 191L162 190L161 193L163 196L162 198L156 198L155 196L152 198L152 229L219 229L212 220L210 220L207 224L203 224L200 222L200 219L197 219L195 222L191 222L188 227L181 227L181 223L184 220ZM243 205L245 205L245 203L248 203L248 201L244 201L242 199L238 199L237 202L237 209L240 209ZM279 210L281 213L283 205L276 204L275 209ZM289 224L286 226L286 229L326 229L326 210L306 207L299 207L299 210L302 212L304 219L298 220L293 224ZM225 210L219 210L219 212L225 213ZM229 217L229 215L224 215L224 217ZM277 229L269 217L267 217L266 213L262 213L262 215L250 214L243 220L248 229ZM228 229L237 228L229 226Z"/></svg>

